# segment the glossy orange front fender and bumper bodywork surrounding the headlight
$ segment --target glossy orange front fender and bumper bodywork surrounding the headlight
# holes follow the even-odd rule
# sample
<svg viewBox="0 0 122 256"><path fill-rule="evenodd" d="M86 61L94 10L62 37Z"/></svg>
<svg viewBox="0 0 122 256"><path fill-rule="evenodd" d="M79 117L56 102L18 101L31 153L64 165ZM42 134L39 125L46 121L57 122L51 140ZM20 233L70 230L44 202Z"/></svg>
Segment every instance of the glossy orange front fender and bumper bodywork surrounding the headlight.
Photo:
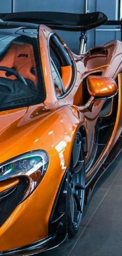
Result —
<svg viewBox="0 0 122 256"><path fill-rule="evenodd" d="M16 207L12 215L2 225L0 230L1 250L26 245L48 236L48 220L51 209L61 179L69 165L72 136L75 136L75 128L79 126L74 107L65 106L51 111L45 106L38 106L35 110L35 106L29 107L27 115L14 122L6 131L2 132L0 137L1 146L5 144L2 162L11 158L12 155L35 149L48 151L50 158L48 169L37 189ZM58 136L59 130L60 137ZM14 147L11 143L12 136ZM51 157L52 154L54 157ZM5 237L8 239L7 243Z"/></svg>

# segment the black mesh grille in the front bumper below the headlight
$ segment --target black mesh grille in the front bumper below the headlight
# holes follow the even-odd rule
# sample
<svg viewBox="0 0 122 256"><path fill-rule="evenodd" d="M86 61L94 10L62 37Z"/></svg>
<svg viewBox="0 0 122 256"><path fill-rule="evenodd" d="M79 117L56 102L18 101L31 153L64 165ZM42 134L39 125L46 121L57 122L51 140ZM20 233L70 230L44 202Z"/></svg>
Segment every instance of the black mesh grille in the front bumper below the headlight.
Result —
<svg viewBox="0 0 122 256"><path fill-rule="evenodd" d="M14 211L15 207L21 202L27 188L27 179L21 178L13 193L0 201L0 227L11 215L12 211Z"/></svg>

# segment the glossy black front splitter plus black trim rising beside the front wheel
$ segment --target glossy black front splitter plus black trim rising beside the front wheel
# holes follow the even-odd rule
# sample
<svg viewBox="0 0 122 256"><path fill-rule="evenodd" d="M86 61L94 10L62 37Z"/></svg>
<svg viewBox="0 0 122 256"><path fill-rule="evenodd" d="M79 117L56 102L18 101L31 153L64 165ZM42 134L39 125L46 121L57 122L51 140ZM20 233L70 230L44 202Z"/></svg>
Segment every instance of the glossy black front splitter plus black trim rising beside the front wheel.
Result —
<svg viewBox="0 0 122 256"><path fill-rule="evenodd" d="M49 220L49 236L26 246L1 251L0 256L30 256L58 247L68 237L67 234L67 186L68 169L58 190Z"/></svg>

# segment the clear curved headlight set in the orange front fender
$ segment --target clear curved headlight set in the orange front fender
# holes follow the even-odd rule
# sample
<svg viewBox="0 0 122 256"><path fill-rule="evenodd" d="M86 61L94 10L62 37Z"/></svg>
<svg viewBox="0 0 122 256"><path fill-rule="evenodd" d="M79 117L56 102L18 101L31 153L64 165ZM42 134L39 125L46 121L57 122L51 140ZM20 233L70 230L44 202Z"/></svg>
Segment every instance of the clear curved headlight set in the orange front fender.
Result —
<svg viewBox="0 0 122 256"><path fill-rule="evenodd" d="M48 154L43 150L31 151L12 158L0 165L0 181L25 175L30 183L27 197L44 176L48 160Z"/></svg>

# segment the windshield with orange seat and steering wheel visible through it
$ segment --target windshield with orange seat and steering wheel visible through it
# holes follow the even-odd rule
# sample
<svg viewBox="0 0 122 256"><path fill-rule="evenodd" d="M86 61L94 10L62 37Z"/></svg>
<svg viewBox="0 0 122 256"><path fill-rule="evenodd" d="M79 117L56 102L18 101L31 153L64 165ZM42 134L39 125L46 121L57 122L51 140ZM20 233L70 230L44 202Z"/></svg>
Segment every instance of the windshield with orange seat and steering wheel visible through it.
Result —
<svg viewBox="0 0 122 256"><path fill-rule="evenodd" d="M45 99L37 31L16 30L0 30L0 111Z"/></svg>

